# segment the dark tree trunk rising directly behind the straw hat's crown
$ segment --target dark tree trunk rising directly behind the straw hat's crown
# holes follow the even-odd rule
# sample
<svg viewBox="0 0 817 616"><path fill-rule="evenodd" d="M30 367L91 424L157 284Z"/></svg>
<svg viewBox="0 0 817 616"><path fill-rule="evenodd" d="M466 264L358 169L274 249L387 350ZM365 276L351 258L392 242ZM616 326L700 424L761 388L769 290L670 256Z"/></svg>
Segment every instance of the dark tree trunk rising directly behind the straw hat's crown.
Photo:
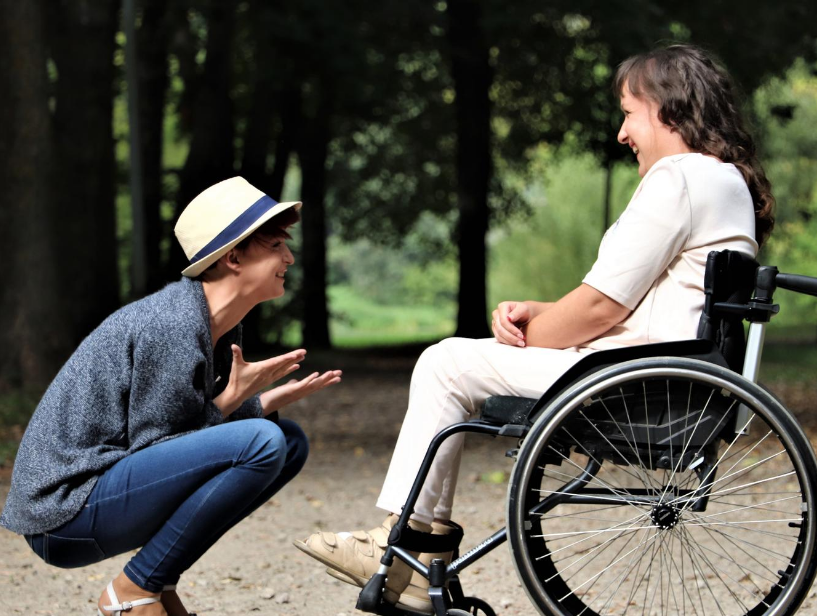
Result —
<svg viewBox="0 0 817 616"><path fill-rule="evenodd" d="M207 57L192 101L190 153L181 172L176 216L208 186L235 175L233 164L232 46L235 5L213 2L207 18ZM185 88L191 86L185 83ZM175 239L171 242L166 276L177 279L188 261Z"/></svg>

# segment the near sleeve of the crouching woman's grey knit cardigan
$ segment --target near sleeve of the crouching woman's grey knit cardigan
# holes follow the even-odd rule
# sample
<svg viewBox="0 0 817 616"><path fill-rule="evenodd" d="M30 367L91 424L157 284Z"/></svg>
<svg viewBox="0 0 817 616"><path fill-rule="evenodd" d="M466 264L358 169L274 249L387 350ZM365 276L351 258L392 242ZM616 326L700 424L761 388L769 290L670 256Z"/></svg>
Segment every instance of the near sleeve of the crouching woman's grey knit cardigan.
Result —
<svg viewBox="0 0 817 616"><path fill-rule="evenodd" d="M222 423L208 392L208 370L203 341L182 320L159 317L140 332L128 400L132 450L151 444L156 434L179 435Z"/></svg>

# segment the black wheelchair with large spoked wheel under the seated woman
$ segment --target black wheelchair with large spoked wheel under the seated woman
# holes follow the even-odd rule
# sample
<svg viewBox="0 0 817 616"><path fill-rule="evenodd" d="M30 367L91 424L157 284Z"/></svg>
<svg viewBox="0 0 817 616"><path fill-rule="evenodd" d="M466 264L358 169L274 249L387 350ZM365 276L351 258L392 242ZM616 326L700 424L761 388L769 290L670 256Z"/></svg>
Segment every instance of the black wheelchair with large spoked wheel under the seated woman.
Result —
<svg viewBox="0 0 817 616"><path fill-rule="evenodd" d="M489 398L479 419L442 430L357 608L411 614L382 599L400 558L429 580L435 616L495 616L458 574L507 540L546 616L794 614L817 567L817 458L756 380L774 291L817 295L817 278L721 251L704 287L697 339L593 353L538 400ZM410 552L456 546L408 519L437 449L459 432L518 439L507 525L426 566Z"/></svg>

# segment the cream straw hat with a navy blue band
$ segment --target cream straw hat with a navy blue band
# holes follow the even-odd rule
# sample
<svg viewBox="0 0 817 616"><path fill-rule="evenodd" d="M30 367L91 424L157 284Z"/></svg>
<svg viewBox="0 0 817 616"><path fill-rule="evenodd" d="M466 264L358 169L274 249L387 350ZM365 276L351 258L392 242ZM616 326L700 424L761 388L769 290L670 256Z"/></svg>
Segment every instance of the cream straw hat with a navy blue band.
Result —
<svg viewBox="0 0 817 616"><path fill-rule="evenodd" d="M301 209L301 202L278 203L241 177L214 184L184 208L173 229L190 260L182 274L195 278L270 218L291 207Z"/></svg>

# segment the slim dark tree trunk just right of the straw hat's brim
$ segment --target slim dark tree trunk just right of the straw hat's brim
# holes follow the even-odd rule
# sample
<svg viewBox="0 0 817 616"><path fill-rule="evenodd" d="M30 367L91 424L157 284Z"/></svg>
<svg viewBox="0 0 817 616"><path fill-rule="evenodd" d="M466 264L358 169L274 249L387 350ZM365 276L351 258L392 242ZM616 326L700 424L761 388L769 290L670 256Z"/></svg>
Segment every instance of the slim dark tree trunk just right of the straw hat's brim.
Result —
<svg viewBox="0 0 817 616"><path fill-rule="evenodd" d="M331 96L321 93L322 103L313 118L304 118L298 140L301 163L301 231L303 233L303 344L309 349L331 346L326 297L326 156L329 149Z"/></svg>

